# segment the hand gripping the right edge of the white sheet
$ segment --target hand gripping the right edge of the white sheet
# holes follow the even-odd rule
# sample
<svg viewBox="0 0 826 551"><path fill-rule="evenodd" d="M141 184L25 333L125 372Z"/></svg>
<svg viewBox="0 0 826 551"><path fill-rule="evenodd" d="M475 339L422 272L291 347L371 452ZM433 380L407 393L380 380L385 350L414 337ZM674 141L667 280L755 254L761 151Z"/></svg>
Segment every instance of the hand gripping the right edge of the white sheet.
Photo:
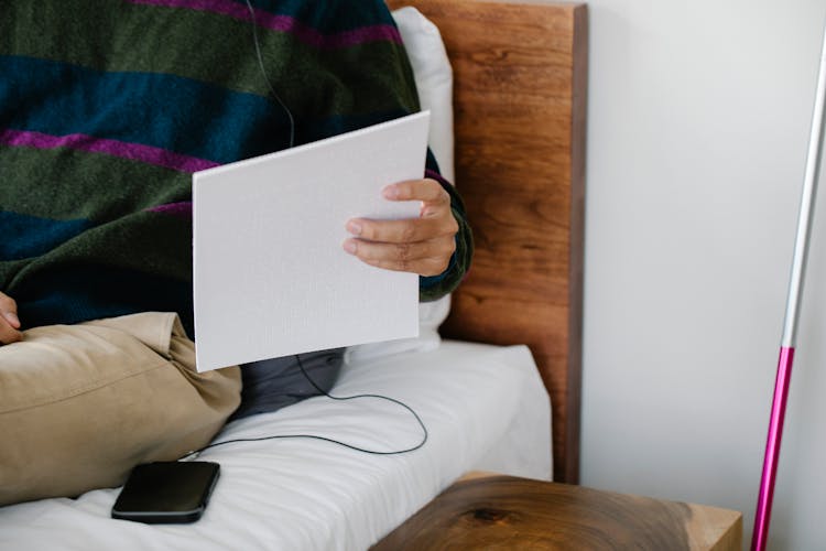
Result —
<svg viewBox="0 0 826 551"><path fill-rule="evenodd" d="M355 237L344 248L368 264L388 270L438 276L456 249L459 225L450 210L450 195L435 180L411 180L387 186L390 201L421 201L419 218L373 220L352 218L347 230Z"/></svg>

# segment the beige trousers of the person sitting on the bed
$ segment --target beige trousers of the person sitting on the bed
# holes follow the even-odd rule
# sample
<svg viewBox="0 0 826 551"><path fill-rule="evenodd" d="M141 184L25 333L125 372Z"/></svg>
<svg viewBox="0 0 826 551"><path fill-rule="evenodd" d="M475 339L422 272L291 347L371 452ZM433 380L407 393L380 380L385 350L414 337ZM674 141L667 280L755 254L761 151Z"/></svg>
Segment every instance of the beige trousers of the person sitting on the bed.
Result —
<svg viewBox="0 0 826 551"><path fill-rule="evenodd" d="M237 367L198 374L174 313L24 332L0 346L0 506L123 483L175 460L240 402Z"/></svg>

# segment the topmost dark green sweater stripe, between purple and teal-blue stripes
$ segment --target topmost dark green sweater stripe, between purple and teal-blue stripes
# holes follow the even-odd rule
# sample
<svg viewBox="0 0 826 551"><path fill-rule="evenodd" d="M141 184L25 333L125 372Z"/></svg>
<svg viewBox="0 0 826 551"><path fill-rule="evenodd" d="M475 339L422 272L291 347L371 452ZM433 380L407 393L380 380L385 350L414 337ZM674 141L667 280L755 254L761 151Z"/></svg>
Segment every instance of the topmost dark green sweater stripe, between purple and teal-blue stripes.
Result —
<svg viewBox="0 0 826 551"><path fill-rule="evenodd" d="M259 29L259 39L270 80L296 116L388 110L399 107L399 98L410 112L417 110L412 73L406 63L399 63L406 58L398 44L371 42L318 52L282 32ZM12 52L98 71L175 74L269 95L250 24L210 12L134 4L113 9L101 0L12 2L0 17L0 54ZM359 60L358 67L352 60ZM394 69L380 71L389 66ZM345 98L330 94L332 89L358 94Z"/></svg>

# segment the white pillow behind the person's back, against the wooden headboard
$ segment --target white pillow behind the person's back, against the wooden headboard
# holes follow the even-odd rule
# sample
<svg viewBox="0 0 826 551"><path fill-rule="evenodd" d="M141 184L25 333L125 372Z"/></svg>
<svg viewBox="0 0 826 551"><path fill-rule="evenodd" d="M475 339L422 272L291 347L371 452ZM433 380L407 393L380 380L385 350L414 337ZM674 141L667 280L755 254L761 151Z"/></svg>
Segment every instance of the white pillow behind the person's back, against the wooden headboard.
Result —
<svg viewBox="0 0 826 551"><path fill-rule="evenodd" d="M431 110L428 144L442 175L454 181L453 68L442 35L433 22L412 7L392 12L416 82L422 110ZM419 304L419 337L351 346L345 361L367 361L391 354L437 348L438 326L450 312L450 296Z"/></svg>

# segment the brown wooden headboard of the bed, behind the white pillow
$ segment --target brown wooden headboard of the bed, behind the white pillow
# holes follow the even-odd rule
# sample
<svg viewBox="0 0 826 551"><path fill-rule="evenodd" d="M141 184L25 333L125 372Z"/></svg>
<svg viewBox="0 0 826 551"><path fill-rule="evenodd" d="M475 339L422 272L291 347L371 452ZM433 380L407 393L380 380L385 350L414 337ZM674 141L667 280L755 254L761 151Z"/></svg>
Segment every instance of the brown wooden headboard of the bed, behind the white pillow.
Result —
<svg viewBox="0 0 826 551"><path fill-rule="evenodd" d="M390 0L441 30L454 69L456 185L476 257L442 334L526 344L552 400L554 479L579 477L587 10Z"/></svg>

